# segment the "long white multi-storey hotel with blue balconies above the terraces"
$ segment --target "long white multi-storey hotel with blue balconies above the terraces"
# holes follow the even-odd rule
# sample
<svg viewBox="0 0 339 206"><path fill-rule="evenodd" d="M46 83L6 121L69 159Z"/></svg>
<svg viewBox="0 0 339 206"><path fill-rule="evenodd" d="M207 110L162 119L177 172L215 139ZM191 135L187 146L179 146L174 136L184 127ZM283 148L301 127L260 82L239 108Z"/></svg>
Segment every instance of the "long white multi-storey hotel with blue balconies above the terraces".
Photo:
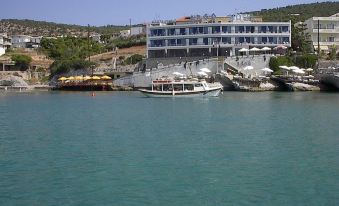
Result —
<svg viewBox="0 0 339 206"><path fill-rule="evenodd" d="M263 22L259 17L183 17L147 25L147 56L233 56L241 48L291 46L291 22Z"/></svg>

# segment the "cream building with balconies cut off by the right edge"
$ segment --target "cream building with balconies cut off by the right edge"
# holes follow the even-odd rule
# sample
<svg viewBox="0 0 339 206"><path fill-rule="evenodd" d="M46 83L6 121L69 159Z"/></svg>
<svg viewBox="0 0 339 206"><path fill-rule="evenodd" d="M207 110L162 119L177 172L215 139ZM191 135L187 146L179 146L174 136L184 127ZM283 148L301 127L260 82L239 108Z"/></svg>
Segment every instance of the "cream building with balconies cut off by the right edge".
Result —
<svg viewBox="0 0 339 206"><path fill-rule="evenodd" d="M331 47L336 47L339 51L339 13L330 17L312 17L305 21L305 25L316 51L318 50L318 31L322 52L328 53Z"/></svg>

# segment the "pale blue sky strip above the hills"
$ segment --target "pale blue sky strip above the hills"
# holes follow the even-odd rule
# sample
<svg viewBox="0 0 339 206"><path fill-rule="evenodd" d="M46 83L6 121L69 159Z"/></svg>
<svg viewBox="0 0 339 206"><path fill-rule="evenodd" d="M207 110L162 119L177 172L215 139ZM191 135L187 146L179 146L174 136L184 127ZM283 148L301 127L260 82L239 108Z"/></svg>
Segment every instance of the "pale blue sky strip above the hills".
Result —
<svg viewBox="0 0 339 206"><path fill-rule="evenodd" d="M127 25L192 14L217 16L321 0L1 0L0 19L78 25Z"/></svg>

